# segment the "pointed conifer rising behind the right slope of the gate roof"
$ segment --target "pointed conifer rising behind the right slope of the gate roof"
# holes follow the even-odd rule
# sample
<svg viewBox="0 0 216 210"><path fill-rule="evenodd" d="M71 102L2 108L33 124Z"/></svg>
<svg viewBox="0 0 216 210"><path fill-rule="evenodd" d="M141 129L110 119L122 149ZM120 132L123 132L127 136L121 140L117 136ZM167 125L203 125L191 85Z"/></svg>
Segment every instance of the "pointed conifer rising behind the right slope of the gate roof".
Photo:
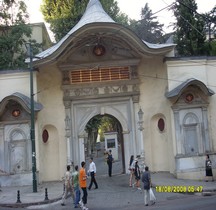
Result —
<svg viewBox="0 0 216 210"><path fill-rule="evenodd" d="M148 3L141 9L141 20L131 20L130 28L142 39L151 43L162 43L163 24L157 21Z"/></svg>

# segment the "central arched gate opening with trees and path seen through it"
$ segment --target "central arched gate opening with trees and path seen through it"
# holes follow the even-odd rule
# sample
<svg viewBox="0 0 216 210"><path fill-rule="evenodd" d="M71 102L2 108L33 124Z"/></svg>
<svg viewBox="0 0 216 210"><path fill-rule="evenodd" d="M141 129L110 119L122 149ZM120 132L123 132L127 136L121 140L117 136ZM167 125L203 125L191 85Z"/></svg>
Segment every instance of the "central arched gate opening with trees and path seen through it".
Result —
<svg viewBox="0 0 216 210"><path fill-rule="evenodd" d="M85 144L85 158L86 161L93 157L97 167L98 175L106 175L108 173L108 166L106 162L107 152L109 147L106 141L106 135L116 135L116 151L117 158L114 157L112 173L125 173L125 159L124 159L124 141L122 134L122 126L118 119L112 115L96 115L91 118L86 124L85 131L88 134ZM113 152L114 152L113 147Z"/></svg>

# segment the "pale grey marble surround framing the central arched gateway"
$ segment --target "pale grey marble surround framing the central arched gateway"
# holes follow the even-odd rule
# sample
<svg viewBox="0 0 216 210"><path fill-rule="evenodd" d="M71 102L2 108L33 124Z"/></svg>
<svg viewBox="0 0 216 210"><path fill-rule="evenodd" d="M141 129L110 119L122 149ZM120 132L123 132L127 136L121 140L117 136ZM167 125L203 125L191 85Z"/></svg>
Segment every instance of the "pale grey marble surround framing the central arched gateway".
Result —
<svg viewBox="0 0 216 210"><path fill-rule="evenodd" d="M88 138L86 125L95 116L108 116L118 125L118 142L121 161L118 173L127 172L126 164L131 154L137 154L135 136L134 103L131 97L110 98L97 100L76 100L65 104L66 117L71 119L71 134L68 141L69 160L77 165L86 160L85 142ZM106 166L107 167L107 166ZM107 171L107 170L106 170Z"/></svg>

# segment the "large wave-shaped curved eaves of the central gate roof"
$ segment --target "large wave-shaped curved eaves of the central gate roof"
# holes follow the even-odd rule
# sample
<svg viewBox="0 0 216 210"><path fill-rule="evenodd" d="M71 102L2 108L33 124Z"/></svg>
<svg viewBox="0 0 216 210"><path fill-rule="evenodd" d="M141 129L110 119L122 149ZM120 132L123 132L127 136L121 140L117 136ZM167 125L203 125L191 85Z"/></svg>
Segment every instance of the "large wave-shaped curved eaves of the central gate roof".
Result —
<svg viewBox="0 0 216 210"><path fill-rule="evenodd" d="M143 41L133 31L115 22L89 23L74 31L70 36L63 38L51 48L36 55L33 59L34 66L54 62L64 51L75 51L77 49L77 43L80 43L82 39L88 39L89 34L95 34L95 36L101 37L115 36L125 40L141 56L166 55L175 47L175 44L152 44ZM26 61L29 62L29 59Z"/></svg>

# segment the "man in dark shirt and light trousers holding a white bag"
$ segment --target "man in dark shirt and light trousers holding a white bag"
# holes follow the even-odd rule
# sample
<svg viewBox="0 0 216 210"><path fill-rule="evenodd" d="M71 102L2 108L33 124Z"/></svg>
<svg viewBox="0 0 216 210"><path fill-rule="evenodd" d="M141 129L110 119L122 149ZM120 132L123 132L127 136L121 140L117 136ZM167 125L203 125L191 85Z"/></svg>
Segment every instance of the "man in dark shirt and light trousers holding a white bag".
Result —
<svg viewBox="0 0 216 210"><path fill-rule="evenodd" d="M150 200L150 188L151 188L151 176L148 166L145 167L145 171L142 174L142 182L144 187L144 203L145 206L148 206L148 200ZM153 201L152 204L155 204Z"/></svg>

